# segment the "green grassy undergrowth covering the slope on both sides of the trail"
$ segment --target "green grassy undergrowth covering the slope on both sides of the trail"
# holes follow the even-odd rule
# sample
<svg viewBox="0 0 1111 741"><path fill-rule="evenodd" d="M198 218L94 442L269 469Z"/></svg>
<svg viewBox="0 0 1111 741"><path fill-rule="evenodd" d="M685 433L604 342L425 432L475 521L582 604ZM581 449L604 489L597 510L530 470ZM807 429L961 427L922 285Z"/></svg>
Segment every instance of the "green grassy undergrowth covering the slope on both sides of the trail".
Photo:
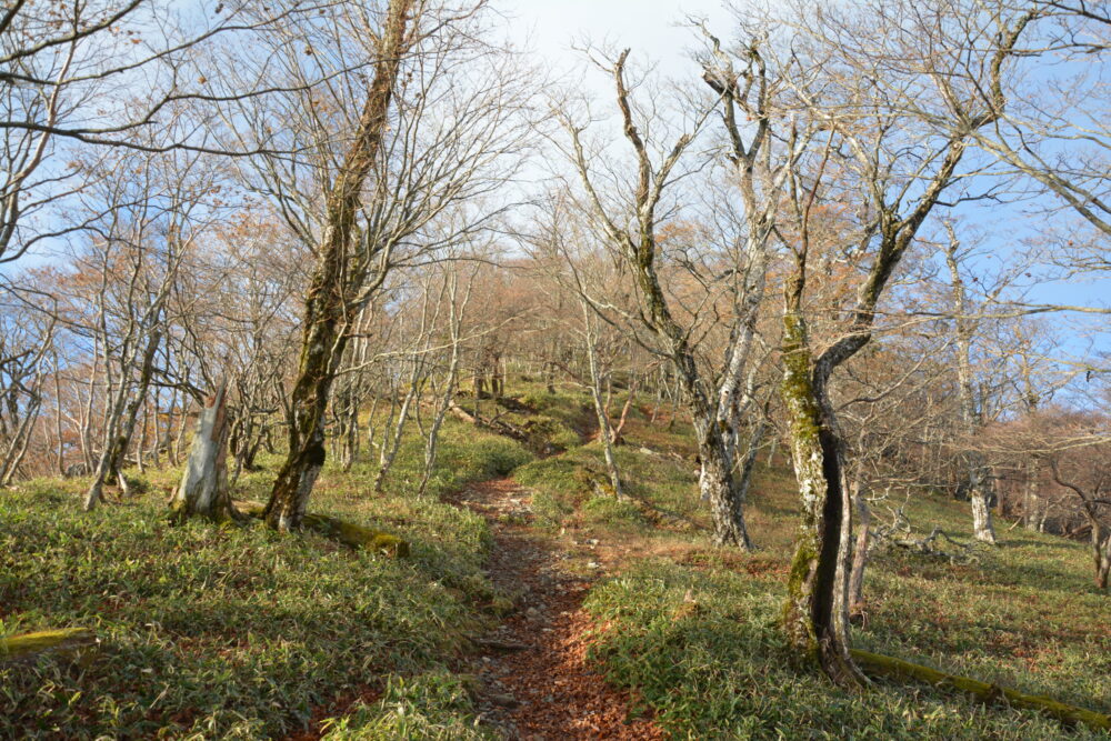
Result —
<svg viewBox="0 0 1111 741"><path fill-rule="evenodd" d="M486 524L439 498L511 471L533 491L539 528L608 553L609 575L587 601L599 621L594 655L674 738L1091 735L922 685L848 694L795 665L778 628L797 522L781 460L761 465L751 494L759 550L720 551L695 499L689 427L633 411L618 451L629 497L618 502L589 441L585 394L524 384L480 403L483 418L529 429L527 444L449 420L424 500L411 495L422 454L414 430L384 495L370 492L367 455L349 473L326 469L318 483L312 510L403 534L410 560L261 527L170 527L174 472L151 474L148 493L92 514L79 511L81 481L4 492L0 634L86 625L104 648L84 668L42 660L0 670L0 737L254 739L322 724L344 740L484 738L469 680L451 668L467 637L496 619L484 605L503 600L482 572ZM266 498L277 461L262 462L238 498ZM960 502L920 498L908 514L922 532L940 524L968 537ZM972 564L875 557L855 642L1111 712L1111 597L1091 587L1085 547L1000 534L1002 545L982 548Z"/></svg>

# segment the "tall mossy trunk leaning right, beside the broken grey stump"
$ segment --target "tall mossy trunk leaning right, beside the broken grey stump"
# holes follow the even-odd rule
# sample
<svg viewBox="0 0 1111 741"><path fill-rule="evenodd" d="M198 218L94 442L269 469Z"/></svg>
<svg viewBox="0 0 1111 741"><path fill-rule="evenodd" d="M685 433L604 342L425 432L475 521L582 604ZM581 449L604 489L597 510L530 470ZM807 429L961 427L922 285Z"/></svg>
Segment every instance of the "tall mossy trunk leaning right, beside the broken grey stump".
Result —
<svg viewBox="0 0 1111 741"><path fill-rule="evenodd" d="M359 271L348 264L356 239L356 214L363 183L389 126L393 84L409 44L412 6L413 0L390 0L381 54L374 62L374 78L359 129L328 193L327 227L306 298L301 357L290 399L289 452L263 512L267 523L280 531L300 527L312 487L324 465L328 397L347 346L347 329L360 308L350 300L350 294L360 290L366 279L366 274L352 274Z"/></svg>

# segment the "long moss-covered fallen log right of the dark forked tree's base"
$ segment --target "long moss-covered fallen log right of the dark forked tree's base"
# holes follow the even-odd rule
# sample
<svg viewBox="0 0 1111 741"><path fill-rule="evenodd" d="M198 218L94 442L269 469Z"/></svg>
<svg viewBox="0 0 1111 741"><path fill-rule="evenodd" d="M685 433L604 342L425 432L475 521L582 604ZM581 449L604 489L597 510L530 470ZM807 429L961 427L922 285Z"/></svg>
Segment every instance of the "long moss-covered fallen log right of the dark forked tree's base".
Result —
<svg viewBox="0 0 1111 741"><path fill-rule="evenodd" d="M943 685L954 690L960 690L961 692L971 694L980 702L1005 702L1012 708L1037 710L1069 725L1083 723L1084 725L1095 730L1111 731L1111 715L1058 702L1052 698L1039 694L1024 694L998 684L990 684L988 682L980 682L965 677L947 674L945 672L938 671L937 669L914 664L893 657L884 657L879 653L872 653L871 651L864 651L861 649L852 649L851 653L852 658L855 659L868 673L894 677L898 679L915 679L928 684Z"/></svg>

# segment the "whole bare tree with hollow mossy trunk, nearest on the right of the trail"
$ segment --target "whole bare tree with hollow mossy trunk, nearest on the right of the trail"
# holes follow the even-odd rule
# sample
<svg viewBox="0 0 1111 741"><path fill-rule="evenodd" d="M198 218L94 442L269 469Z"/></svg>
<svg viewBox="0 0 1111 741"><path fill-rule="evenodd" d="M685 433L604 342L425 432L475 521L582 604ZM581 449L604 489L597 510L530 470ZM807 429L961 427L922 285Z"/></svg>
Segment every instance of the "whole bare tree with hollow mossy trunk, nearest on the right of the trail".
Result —
<svg viewBox="0 0 1111 741"><path fill-rule="evenodd" d="M894 8L901 10L895 12ZM909 28L898 24L908 11ZM793 266L784 291L783 401L791 423L792 460L803 503L803 521L788 584L787 630L791 641L813 655L837 682L858 684L862 675L849 654L848 583L852 543L851 487L845 477L844 442L830 402L833 371L864 348L874 331L883 292L930 212L960 179L958 167L970 132L998 117L991 101L965 102L931 91L949 67L975 66L991 86L1003 74L1014 40L1027 22L1020 16L1000 29L997 43L971 62L935 53L948 28L943 8L911 10L898 2L872 3L839 12L801 9L794 28L804 33L809 53L820 60L817 78L792 79L800 104L829 131L828 143L810 172L792 173L795 233L784 239ZM890 32L890 34L889 34ZM994 76L994 79L992 78ZM960 117L955 131L937 136L908 111L924 107ZM842 162L842 151L847 157ZM913 152L911 157L909 153ZM815 350L808 331L808 286L815 204L834 198L827 170L833 160L852 174L862 192L854 213L854 244L845 258L861 266L855 297L838 307L840 337ZM902 170L900 166L909 166ZM845 168L842 170L842 168ZM851 182L851 181L850 181ZM841 191L844 194L852 192ZM821 201L819 200L821 198Z"/></svg>

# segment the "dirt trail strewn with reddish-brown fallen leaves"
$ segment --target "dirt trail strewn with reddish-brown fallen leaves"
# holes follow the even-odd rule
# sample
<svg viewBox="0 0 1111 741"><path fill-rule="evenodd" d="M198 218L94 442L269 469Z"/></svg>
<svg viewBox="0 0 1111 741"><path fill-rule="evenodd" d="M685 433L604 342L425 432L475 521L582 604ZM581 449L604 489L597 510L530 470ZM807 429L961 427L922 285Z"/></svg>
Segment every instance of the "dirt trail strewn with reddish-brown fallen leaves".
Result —
<svg viewBox="0 0 1111 741"><path fill-rule="evenodd" d="M591 580L570 573L568 555L528 527L529 493L496 479L454 499L490 522L490 579L517 598L470 662L483 720L514 741L665 738L650 715L631 718L629 694L587 664L591 620L582 600Z"/></svg>

